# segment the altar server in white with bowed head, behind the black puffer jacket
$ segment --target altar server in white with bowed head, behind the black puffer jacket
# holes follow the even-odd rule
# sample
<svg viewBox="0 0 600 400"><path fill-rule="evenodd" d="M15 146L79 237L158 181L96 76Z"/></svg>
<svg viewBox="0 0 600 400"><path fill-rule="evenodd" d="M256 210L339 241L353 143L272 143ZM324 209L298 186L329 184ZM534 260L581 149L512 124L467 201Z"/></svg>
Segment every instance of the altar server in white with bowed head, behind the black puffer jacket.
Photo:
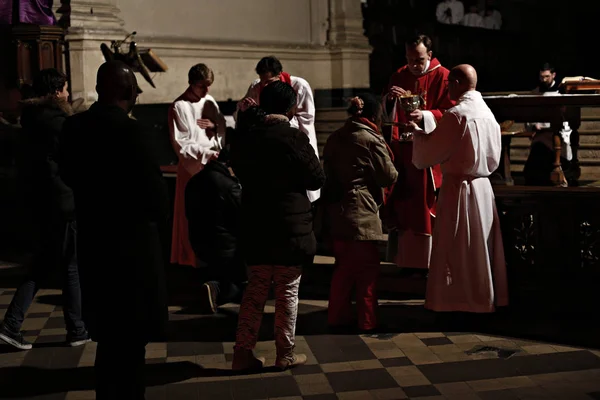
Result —
<svg viewBox="0 0 600 400"><path fill-rule="evenodd" d="M296 91L296 112L290 119L290 125L300 129L308 136L310 145L319 158L317 132L315 131L315 101L310 84L306 79L284 72L281 62L274 56L263 57L256 64L256 73L259 78L252 82L246 96L238 103L238 110L242 107L258 105L260 93L266 85L273 81L284 81ZM321 190L309 191L307 194L308 199L315 202L321 196Z"/></svg>

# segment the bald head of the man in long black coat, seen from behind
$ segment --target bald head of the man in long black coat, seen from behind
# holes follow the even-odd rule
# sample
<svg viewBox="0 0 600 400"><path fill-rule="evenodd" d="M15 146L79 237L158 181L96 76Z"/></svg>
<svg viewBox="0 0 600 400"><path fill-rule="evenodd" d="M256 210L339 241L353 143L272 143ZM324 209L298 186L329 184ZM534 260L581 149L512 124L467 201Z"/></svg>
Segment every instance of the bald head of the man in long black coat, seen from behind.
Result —
<svg viewBox="0 0 600 400"><path fill-rule="evenodd" d="M98 101L118 104L131 111L138 94L137 79L132 69L122 61L107 61L96 76Z"/></svg>

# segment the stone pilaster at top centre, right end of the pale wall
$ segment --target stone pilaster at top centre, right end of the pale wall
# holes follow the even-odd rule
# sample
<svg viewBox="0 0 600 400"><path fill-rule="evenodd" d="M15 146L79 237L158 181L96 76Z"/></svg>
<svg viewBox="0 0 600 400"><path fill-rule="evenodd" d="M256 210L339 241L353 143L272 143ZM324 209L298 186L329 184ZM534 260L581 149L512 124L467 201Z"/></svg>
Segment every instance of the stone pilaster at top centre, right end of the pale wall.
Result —
<svg viewBox="0 0 600 400"><path fill-rule="evenodd" d="M333 87L368 88L371 47L364 35L361 0L329 0L327 39Z"/></svg>

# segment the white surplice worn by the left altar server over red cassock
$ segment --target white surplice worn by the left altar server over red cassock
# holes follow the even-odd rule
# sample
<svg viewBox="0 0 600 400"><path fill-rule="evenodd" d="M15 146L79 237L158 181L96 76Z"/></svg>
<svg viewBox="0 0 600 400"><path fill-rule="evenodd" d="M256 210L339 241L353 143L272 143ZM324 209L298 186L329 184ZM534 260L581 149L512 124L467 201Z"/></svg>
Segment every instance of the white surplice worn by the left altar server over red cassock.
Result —
<svg viewBox="0 0 600 400"><path fill-rule="evenodd" d="M173 106L173 146L180 162L191 176L199 172L223 147L221 135L209 137L206 130L198 126L197 121L202 119L207 101L213 102L219 109L219 105L209 94L196 102L177 100Z"/></svg>

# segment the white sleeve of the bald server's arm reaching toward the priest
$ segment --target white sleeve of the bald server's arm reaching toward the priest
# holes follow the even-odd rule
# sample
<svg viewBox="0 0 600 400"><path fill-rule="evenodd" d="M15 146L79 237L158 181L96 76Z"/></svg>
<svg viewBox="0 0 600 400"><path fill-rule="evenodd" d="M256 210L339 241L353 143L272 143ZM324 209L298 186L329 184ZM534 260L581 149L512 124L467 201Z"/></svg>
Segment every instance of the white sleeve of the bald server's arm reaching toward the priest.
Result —
<svg viewBox="0 0 600 400"><path fill-rule="evenodd" d="M444 114L437 128L430 134L416 129L413 138L414 166L425 169L446 161L460 142L465 129L466 126L451 112Z"/></svg>

